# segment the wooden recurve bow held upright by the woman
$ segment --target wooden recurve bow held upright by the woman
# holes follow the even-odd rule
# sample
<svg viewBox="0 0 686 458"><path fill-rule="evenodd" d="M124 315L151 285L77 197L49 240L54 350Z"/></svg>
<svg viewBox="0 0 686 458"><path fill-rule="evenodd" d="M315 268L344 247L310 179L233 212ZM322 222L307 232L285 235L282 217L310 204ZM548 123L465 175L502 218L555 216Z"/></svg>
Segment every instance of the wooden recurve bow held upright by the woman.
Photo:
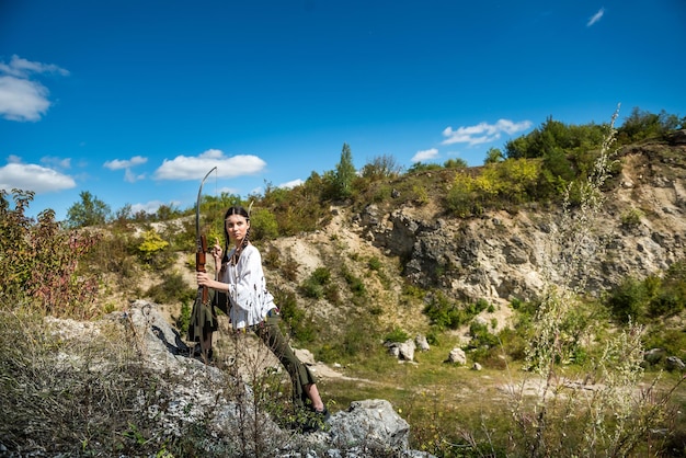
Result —
<svg viewBox="0 0 686 458"><path fill-rule="evenodd" d="M207 176L217 170L214 167L203 181L201 181L201 188L197 191L197 202L195 204L195 237L197 247L195 251L195 272L207 272L205 270L205 253L207 252L207 238L201 233L201 197L203 194L203 184ZM208 329L214 327L214 317L211 314L211 307L209 306L209 288L207 286L197 287L197 296L193 306L193 312L191 314L191 325L188 327L188 339L191 341L201 341L204 347L204 337ZM204 351L205 348L203 348Z"/></svg>

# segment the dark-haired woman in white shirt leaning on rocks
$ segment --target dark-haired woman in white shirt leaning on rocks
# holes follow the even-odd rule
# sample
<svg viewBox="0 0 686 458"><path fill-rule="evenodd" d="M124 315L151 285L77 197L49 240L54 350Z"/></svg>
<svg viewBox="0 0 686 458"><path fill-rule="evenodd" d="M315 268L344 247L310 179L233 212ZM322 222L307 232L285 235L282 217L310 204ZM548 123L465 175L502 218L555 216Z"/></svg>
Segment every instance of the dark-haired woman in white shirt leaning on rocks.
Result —
<svg viewBox="0 0 686 458"><path fill-rule="evenodd" d="M296 407L305 407L309 401L310 409L327 420L329 412L319 396L315 377L297 358L278 328L278 308L266 289L262 256L249 240L250 215L243 207L230 207L224 225L226 251L218 243L211 250L217 279L198 272L197 284L228 295L231 304L228 314L233 329L254 331L288 370ZM235 244L230 251L229 240ZM211 348L211 333L205 339L204 347L206 352Z"/></svg>

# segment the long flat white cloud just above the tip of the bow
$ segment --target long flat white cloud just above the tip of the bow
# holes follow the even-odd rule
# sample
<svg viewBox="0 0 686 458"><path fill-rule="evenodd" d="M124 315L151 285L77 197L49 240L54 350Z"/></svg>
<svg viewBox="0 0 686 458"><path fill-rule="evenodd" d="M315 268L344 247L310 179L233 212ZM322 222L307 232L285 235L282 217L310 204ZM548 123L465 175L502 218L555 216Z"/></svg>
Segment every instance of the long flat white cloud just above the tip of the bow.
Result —
<svg viewBox="0 0 686 458"><path fill-rule="evenodd" d="M213 167L217 168L217 176L232 179L253 175L266 167L266 162L256 156L224 156L218 149L208 149L197 157L178 156L164 160L155 171L156 180L201 180Z"/></svg>

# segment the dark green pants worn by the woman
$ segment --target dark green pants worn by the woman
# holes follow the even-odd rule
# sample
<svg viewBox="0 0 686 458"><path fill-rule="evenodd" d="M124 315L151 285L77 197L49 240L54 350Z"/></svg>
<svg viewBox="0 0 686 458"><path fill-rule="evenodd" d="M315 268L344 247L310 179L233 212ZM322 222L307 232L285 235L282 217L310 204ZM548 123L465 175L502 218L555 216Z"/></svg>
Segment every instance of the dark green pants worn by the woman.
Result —
<svg viewBox="0 0 686 458"><path fill-rule="evenodd" d="M310 369L298 359L278 328L281 317L276 313L267 317L263 323L253 327L255 334L272 350L286 368L293 382L293 403L305 407L309 400L305 387L317 382Z"/></svg>

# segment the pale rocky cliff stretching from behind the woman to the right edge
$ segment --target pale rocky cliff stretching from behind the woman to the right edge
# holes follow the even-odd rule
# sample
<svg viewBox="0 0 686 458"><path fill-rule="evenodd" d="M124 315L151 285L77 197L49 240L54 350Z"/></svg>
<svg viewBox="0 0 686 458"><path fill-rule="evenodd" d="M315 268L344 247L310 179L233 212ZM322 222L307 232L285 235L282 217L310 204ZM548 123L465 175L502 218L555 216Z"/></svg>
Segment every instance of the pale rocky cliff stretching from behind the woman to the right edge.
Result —
<svg viewBox="0 0 686 458"><path fill-rule="evenodd" d="M405 282L456 299L493 304L533 298L546 276L554 282L572 275L583 278L586 293L597 295L628 276L658 274L685 254L686 146L633 146L614 160L621 172L607 183L601 213L584 221L587 237L576 249L586 251L588 261L574 271L561 268L556 259L560 242L573 242L554 237L564 229L564 209L540 205L471 218L447 215L435 201L398 208L370 204L361 211L332 208L323 230L279 239L271 249L299 266L298 282L319 266L346 265L376 291L377 304L393 310ZM365 265L369 259L384 260L398 277L380 285ZM285 288L293 284L277 273L274 282ZM329 318L338 312L325 301L315 310ZM413 314L397 310L403 313Z"/></svg>

